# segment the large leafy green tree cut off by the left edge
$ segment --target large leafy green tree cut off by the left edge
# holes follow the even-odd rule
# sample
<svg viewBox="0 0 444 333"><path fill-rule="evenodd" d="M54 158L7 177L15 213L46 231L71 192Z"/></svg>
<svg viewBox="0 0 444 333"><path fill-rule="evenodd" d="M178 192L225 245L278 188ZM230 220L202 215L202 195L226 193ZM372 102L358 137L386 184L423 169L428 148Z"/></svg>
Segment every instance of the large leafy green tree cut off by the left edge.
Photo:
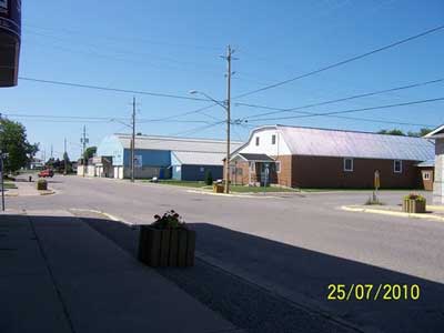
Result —
<svg viewBox="0 0 444 333"><path fill-rule="evenodd" d="M8 153L4 172L14 172L31 162L39 145L29 143L27 130L21 123L0 119L0 150Z"/></svg>

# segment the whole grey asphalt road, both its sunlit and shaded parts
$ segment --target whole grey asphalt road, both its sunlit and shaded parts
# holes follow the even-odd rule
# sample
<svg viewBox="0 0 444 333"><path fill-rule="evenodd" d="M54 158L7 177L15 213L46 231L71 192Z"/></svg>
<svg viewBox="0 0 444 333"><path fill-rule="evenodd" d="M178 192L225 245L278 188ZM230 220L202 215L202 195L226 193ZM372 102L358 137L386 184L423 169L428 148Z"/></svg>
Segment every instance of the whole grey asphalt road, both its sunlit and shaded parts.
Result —
<svg viewBox="0 0 444 333"><path fill-rule="evenodd" d="M215 196L186 189L56 176L50 196L8 198L16 209L85 209L150 223L174 209L198 231L199 256L292 302L364 331L444 327L444 223L344 212L370 193ZM396 203L403 192L382 192ZM427 194L430 198L430 194ZM329 284L417 284L417 301L327 301Z"/></svg>

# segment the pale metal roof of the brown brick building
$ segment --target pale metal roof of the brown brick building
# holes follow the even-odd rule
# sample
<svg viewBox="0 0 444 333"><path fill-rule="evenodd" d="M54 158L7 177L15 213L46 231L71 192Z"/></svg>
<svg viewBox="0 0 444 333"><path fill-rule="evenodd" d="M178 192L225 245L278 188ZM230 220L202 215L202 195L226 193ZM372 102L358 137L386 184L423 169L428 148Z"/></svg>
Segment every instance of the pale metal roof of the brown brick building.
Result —
<svg viewBox="0 0 444 333"><path fill-rule="evenodd" d="M276 125L292 154L426 161L434 144L423 138Z"/></svg>

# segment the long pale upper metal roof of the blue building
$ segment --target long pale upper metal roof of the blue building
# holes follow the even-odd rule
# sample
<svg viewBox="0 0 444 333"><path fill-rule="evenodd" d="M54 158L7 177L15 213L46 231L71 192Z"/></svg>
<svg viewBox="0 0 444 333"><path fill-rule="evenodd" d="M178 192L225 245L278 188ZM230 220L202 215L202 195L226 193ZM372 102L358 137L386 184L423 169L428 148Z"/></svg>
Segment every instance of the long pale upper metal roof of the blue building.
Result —
<svg viewBox="0 0 444 333"><path fill-rule="evenodd" d="M131 148L131 135L115 134L124 149ZM232 141L231 151L238 149L242 142ZM211 139L189 139L161 135L137 135L135 149L169 150L186 152L226 152L226 141Z"/></svg>

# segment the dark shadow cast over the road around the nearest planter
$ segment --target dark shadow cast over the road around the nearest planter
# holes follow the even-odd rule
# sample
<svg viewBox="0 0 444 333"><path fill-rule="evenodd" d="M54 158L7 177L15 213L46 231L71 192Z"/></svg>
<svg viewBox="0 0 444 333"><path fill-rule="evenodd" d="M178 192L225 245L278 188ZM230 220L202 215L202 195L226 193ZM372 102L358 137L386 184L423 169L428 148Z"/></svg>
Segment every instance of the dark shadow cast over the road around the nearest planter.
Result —
<svg viewBox="0 0 444 333"><path fill-rule="evenodd" d="M84 219L84 221L135 255L138 228L101 219ZM352 329L359 327L362 331L441 332L444 327L444 303L442 301L444 285L441 283L209 223L190 223L189 226L198 234L196 251L200 260L196 261L196 266L185 271L174 269L159 269L158 271L246 331L273 332L273 330L280 330L275 326L268 330L266 320L291 322L293 319L289 316L287 311L291 312L292 309L309 309L313 313L321 313L323 317L337 319L340 323L345 323L345 326L351 323ZM205 268L206 270L219 270L219 272L208 274L204 272ZM223 275L230 278L220 278ZM282 317L279 315L276 317L274 314L271 319L258 319L258 314L266 316L265 313L269 311L263 311L262 307L270 304L268 305L265 300L255 300L255 295L245 295L239 290L233 291L231 290L233 286L226 285L236 283L241 283L243 289L248 285L249 293L260 294L266 290L270 295L276 296L278 294L276 297L281 300L281 303L274 304L273 307L290 306L290 310L281 313ZM366 295L364 295L364 300L356 300L356 290L352 290L349 301L327 300L330 284L344 284L346 291L357 284L372 284L373 289L369 295L370 300L365 300ZM389 292L389 286L382 289L377 300L374 300L380 284L407 285L407 300L404 300L403 286L400 300L394 300L397 297L397 293L393 289ZM411 299L410 287L414 284L418 285L421 290L418 300ZM238 295L233 295L235 293ZM383 300L385 293L387 296L392 296L392 300ZM234 313L233 310L225 309L226 304L218 304L216 297L224 297L225 294L232 294L232 297L238 296L238 300L234 301L221 301L231 304L231 307L239 306L234 309ZM339 292L334 294L336 297L340 295ZM246 301L239 301L239 299L246 299ZM234 304L230 302L234 302ZM260 304L261 302L263 304ZM256 313L249 313L249 311ZM246 313L244 316L248 319L239 317L240 312ZM284 327L287 330L286 326ZM301 327L303 331L310 331L303 325L291 325L292 330L301 330ZM281 330L284 329L281 327ZM320 329L317 327L317 330Z"/></svg>

